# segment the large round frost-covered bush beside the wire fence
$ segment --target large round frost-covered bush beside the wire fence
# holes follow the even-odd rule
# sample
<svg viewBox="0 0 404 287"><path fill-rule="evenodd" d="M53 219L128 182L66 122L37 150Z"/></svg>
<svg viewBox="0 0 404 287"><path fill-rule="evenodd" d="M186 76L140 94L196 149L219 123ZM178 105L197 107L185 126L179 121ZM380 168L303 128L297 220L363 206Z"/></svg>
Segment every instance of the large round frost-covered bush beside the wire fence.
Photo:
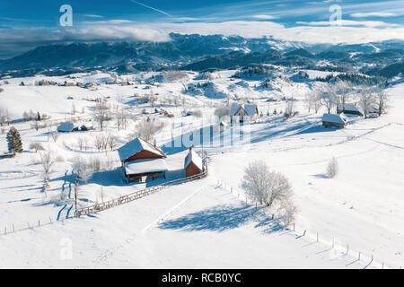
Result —
<svg viewBox="0 0 404 287"><path fill-rule="evenodd" d="M242 188L251 201L275 207L283 224L294 221L297 208L292 200L292 186L283 174L270 171L265 161L250 162L244 170Z"/></svg>

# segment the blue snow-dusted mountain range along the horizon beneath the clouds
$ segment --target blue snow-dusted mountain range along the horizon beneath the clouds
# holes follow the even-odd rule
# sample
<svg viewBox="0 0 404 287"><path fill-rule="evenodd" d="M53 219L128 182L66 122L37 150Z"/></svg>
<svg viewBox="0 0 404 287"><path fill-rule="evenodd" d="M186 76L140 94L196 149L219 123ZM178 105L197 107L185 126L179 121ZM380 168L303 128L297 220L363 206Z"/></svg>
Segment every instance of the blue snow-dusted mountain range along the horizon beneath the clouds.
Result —
<svg viewBox="0 0 404 287"><path fill-rule="evenodd" d="M402 73L402 40L357 45L311 45L272 38L175 33L170 36L171 41L168 42L121 41L40 46L20 56L0 60L0 75L69 74L95 68L119 74L163 69L205 71L250 64L360 71L389 77Z"/></svg>

